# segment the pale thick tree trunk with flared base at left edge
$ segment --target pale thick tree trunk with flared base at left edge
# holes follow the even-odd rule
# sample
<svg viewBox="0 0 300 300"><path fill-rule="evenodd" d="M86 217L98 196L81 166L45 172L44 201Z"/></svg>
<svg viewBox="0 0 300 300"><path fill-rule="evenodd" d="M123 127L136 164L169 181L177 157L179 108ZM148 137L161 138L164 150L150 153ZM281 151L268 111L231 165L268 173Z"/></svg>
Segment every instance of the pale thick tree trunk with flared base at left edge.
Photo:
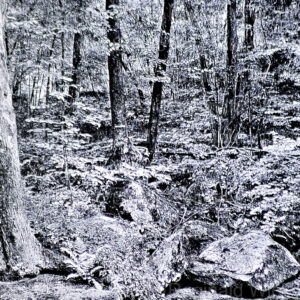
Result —
<svg viewBox="0 0 300 300"><path fill-rule="evenodd" d="M4 43L5 4L0 0L0 273L35 274L41 249L25 218L17 129L8 83Z"/></svg>

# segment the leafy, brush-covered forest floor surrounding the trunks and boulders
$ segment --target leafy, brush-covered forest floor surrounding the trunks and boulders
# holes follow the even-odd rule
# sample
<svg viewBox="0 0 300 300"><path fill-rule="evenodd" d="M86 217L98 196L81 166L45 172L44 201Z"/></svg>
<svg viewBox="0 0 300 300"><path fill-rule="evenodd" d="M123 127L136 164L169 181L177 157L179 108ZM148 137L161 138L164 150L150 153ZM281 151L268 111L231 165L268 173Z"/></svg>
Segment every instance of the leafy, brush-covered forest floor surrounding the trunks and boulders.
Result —
<svg viewBox="0 0 300 300"><path fill-rule="evenodd" d="M145 164L141 146L147 120L138 117L129 124L139 163L111 170L106 166L109 109L100 104L99 115L98 100L80 103L64 120L57 102L51 115L37 112L39 123L32 119L20 136L27 212L36 237L54 260L48 272L52 268L60 275L1 283L1 299L151 294L156 282L144 262L191 220L216 224L224 236L259 229L300 260L299 126L290 127L287 134L273 130L263 149L216 149L210 144L209 120L202 108L191 112L184 102L174 107L169 101L151 166ZM170 299L188 299L186 289ZM297 297L299 287L296 283L277 291L268 299L289 299L289 292ZM213 290L202 293L202 298L195 297L235 299Z"/></svg>

